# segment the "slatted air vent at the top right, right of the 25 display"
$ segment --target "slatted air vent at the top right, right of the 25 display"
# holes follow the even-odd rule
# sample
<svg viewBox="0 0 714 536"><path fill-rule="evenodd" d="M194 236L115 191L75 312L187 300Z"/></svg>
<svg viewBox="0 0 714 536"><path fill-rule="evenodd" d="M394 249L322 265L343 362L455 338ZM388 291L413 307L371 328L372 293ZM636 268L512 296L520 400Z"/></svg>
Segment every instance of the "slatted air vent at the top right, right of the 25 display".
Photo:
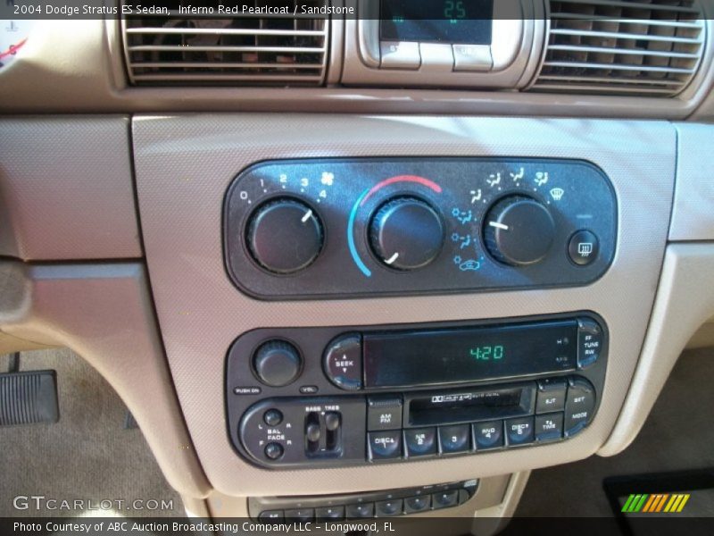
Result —
<svg viewBox="0 0 714 536"><path fill-rule="evenodd" d="M550 12L535 90L675 96L704 50L695 0L552 0Z"/></svg>

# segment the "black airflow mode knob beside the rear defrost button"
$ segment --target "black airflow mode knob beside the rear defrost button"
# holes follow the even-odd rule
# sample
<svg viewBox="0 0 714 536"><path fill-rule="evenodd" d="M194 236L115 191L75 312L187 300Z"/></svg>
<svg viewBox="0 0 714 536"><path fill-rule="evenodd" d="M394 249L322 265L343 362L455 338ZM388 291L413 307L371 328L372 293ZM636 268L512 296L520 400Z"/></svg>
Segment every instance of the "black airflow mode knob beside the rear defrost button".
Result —
<svg viewBox="0 0 714 536"><path fill-rule="evenodd" d="M537 263L548 254L554 238L550 211L532 197L504 197L484 220L486 247L503 264Z"/></svg>

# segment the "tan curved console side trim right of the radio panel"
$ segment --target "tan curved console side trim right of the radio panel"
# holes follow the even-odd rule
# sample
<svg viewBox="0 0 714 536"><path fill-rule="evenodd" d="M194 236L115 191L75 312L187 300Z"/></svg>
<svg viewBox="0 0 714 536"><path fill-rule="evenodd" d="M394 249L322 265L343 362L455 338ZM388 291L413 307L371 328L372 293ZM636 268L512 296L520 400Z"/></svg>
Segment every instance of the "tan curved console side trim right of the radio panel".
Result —
<svg viewBox="0 0 714 536"><path fill-rule="evenodd" d="M714 315L712 281L714 243L668 246L642 356L618 422L599 455L618 454L635 440L687 341Z"/></svg>

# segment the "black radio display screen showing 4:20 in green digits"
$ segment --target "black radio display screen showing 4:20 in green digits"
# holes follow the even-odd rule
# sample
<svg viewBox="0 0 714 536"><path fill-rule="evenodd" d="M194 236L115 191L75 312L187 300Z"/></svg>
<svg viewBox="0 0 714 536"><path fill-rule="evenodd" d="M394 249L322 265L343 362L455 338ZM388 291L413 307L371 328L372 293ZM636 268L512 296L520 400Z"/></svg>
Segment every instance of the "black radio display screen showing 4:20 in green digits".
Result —
<svg viewBox="0 0 714 536"><path fill-rule="evenodd" d="M577 322L366 333L365 387L410 387L560 373L577 366Z"/></svg>

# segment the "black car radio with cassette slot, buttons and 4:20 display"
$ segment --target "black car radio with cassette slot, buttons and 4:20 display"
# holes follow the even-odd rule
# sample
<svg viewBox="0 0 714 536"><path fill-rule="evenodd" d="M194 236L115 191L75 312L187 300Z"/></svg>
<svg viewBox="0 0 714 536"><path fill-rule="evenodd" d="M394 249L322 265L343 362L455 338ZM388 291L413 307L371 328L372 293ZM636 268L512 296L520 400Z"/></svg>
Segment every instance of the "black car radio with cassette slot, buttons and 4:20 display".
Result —
<svg viewBox="0 0 714 536"><path fill-rule="evenodd" d="M229 436L271 468L567 440L595 415L607 346L593 313L248 331L228 351Z"/></svg>

